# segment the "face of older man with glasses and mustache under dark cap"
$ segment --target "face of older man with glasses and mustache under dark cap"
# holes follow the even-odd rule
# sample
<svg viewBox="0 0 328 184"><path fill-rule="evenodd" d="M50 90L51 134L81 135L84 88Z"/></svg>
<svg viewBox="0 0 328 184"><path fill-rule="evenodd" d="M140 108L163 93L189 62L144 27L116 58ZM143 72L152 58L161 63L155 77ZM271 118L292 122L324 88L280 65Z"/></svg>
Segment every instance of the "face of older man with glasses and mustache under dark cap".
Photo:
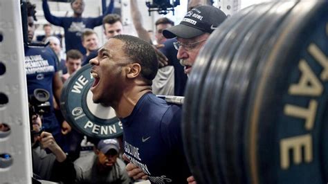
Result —
<svg viewBox="0 0 328 184"><path fill-rule="evenodd" d="M185 74L189 75L192 70L192 65L199 54L199 50L205 44L206 39L210 36L209 33L205 33L198 37L193 37L190 39L185 39L177 37L178 42L182 44L179 47L178 54L176 57L180 59L180 64L185 66Z"/></svg>

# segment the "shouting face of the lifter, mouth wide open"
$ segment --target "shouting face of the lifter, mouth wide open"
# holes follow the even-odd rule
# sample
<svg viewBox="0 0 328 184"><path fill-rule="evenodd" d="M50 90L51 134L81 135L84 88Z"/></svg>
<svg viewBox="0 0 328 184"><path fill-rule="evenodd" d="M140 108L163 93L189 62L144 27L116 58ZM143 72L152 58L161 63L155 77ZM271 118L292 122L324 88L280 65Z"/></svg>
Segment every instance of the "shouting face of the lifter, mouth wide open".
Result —
<svg viewBox="0 0 328 184"><path fill-rule="evenodd" d="M120 100L130 64L123 46L122 41L111 38L100 48L98 56L90 60L91 75L95 79L90 89L93 102L111 106Z"/></svg>

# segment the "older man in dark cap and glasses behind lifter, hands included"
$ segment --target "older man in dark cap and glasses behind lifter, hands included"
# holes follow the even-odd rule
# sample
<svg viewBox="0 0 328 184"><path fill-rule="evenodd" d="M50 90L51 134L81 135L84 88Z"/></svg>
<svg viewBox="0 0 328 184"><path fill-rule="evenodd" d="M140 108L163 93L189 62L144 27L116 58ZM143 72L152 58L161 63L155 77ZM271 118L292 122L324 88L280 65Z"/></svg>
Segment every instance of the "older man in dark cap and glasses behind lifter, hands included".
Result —
<svg viewBox="0 0 328 184"><path fill-rule="evenodd" d="M197 6L182 19L179 25L163 30L166 38L176 37L174 47L178 50L176 57L184 66L187 75L192 70L192 64L199 54L199 50L205 44L210 34L226 19L226 14L214 6ZM126 167L129 176L147 178L136 165L129 163ZM193 176L187 178L188 183L194 184Z"/></svg>

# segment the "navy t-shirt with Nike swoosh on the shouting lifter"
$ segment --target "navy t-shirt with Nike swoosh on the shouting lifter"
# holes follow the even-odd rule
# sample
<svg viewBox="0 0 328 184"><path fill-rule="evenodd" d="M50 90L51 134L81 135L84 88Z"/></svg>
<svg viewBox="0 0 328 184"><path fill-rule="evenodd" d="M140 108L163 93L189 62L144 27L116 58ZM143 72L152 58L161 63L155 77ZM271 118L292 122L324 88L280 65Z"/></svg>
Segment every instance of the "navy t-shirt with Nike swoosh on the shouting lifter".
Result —
<svg viewBox="0 0 328 184"><path fill-rule="evenodd" d="M146 93L121 122L125 154L149 181L187 183L191 173L183 153L181 106Z"/></svg>

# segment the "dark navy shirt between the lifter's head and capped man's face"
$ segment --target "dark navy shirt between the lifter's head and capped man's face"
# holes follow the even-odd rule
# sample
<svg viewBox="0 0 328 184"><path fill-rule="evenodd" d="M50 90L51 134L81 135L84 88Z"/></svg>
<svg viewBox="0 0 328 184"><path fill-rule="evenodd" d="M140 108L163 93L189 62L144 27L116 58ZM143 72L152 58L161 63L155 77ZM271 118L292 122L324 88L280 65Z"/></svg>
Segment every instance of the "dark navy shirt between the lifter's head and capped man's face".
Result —
<svg viewBox="0 0 328 184"><path fill-rule="evenodd" d="M167 59L169 59L169 65L174 67L174 95L183 96L188 76L185 74L184 68L180 64L179 59L176 58L178 50L174 48L173 42L177 42L176 38L167 39L164 42L165 46L160 50L167 57Z"/></svg>

